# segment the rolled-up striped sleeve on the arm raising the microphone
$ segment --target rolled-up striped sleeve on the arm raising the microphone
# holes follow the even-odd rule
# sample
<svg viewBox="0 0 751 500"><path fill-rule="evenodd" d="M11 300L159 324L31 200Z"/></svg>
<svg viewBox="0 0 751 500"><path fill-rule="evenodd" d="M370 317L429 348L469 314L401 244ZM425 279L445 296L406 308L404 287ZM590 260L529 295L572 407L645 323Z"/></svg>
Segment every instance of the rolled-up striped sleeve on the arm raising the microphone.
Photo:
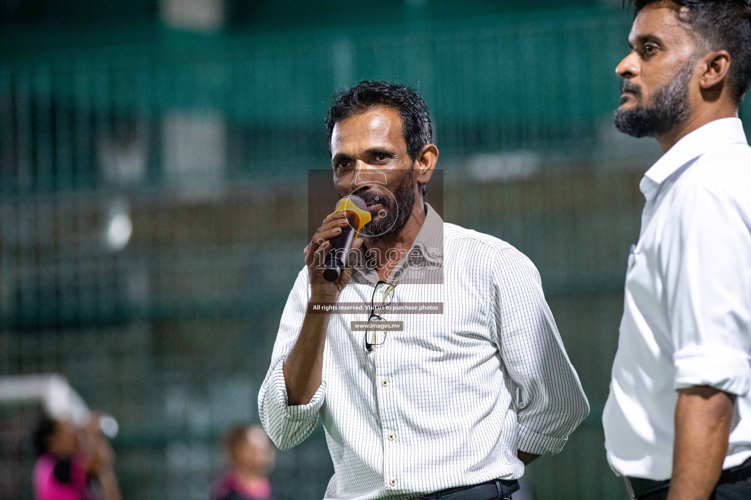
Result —
<svg viewBox="0 0 751 500"><path fill-rule="evenodd" d="M258 415L266 433L281 450L303 442L318 422L318 412L326 394L326 380L306 405L289 406L284 378L284 361L294 346L305 318L309 298L307 269L303 268L287 299L279 333L276 334L271 366L258 392Z"/></svg>

